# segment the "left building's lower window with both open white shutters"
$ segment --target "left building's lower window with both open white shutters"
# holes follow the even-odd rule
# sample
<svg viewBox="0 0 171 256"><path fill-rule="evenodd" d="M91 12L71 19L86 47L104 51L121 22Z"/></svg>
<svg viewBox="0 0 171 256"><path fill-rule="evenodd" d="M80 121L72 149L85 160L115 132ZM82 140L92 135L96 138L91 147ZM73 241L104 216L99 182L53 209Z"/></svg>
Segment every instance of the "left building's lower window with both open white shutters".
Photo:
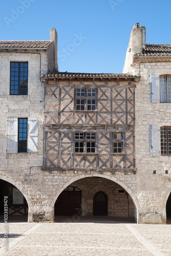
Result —
<svg viewBox="0 0 171 256"><path fill-rule="evenodd" d="M8 117L7 153L37 152L37 117Z"/></svg>

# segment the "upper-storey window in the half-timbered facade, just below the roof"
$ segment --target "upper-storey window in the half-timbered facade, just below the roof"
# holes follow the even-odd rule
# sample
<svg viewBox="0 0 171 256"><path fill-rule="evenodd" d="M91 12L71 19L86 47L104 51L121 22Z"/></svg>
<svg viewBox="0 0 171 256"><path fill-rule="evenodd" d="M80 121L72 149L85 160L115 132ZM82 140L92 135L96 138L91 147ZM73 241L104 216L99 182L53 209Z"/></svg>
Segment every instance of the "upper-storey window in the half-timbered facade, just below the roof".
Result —
<svg viewBox="0 0 171 256"><path fill-rule="evenodd" d="M76 111L96 110L96 88L76 89Z"/></svg>

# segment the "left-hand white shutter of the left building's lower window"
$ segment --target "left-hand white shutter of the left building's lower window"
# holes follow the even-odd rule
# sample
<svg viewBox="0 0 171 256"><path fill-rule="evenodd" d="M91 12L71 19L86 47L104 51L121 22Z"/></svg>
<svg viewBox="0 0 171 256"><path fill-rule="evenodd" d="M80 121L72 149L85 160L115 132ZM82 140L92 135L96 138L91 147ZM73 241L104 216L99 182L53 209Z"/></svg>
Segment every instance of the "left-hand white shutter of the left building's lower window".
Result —
<svg viewBox="0 0 171 256"><path fill-rule="evenodd" d="M18 118L8 117L7 153L17 153Z"/></svg>

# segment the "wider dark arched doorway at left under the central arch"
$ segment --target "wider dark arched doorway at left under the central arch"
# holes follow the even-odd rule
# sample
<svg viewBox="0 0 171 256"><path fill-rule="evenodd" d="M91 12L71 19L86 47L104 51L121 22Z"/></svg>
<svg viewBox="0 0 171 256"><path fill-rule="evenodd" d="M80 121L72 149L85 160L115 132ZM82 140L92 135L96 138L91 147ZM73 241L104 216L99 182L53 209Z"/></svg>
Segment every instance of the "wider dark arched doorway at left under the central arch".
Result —
<svg viewBox="0 0 171 256"><path fill-rule="evenodd" d="M81 190L75 186L66 187L55 203L55 215L73 216L81 214Z"/></svg>

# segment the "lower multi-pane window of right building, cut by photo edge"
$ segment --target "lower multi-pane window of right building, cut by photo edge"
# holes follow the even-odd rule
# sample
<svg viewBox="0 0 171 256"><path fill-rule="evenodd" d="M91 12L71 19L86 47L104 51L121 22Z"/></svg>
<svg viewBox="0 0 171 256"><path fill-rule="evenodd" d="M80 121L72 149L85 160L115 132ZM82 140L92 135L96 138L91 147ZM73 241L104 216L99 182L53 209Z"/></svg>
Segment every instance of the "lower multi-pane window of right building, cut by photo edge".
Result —
<svg viewBox="0 0 171 256"><path fill-rule="evenodd" d="M171 127L161 127L160 146L161 155L171 155Z"/></svg>

